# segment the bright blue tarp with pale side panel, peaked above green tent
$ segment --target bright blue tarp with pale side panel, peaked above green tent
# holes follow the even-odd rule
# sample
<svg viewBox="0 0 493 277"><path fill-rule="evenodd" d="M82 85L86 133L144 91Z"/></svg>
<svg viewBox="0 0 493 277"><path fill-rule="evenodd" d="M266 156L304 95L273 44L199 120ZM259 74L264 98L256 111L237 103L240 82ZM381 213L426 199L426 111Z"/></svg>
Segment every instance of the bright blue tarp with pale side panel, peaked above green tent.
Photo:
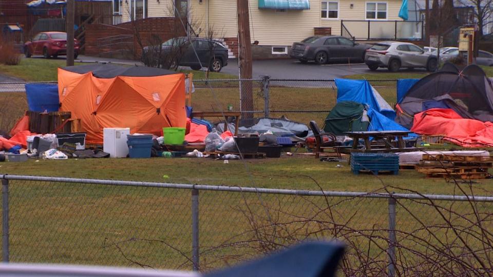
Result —
<svg viewBox="0 0 493 277"><path fill-rule="evenodd" d="M390 120L394 120L395 111L368 81L336 79L335 84L337 86L337 103L354 101L365 104L387 116Z"/></svg>

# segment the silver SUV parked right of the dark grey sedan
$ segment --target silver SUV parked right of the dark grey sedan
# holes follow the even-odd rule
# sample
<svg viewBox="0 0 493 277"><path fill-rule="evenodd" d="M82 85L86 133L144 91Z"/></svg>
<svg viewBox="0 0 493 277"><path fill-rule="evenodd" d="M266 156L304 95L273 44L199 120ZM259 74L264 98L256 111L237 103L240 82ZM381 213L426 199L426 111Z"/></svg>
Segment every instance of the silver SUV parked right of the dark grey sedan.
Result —
<svg viewBox="0 0 493 277"><path fill-rule="evenodd" d="M405 68L437 69L437 56L412 43L381 42L366 50L365 64L370 70L386 67L392 72Z"/></svg>

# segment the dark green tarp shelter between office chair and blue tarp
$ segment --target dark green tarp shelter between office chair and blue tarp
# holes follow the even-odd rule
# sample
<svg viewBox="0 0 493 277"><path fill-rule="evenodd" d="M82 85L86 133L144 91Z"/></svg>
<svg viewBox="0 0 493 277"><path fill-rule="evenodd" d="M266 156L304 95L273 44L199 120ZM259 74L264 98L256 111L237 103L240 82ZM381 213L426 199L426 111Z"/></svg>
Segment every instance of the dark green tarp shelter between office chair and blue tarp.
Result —
<svg viewBox="0 0 493 277"><path fill-rule="evenodd" d="M345 135L344 132L367 131L368 121L362 121L365 106L353 101L337 103L325 119L325 132Z"/></svg>

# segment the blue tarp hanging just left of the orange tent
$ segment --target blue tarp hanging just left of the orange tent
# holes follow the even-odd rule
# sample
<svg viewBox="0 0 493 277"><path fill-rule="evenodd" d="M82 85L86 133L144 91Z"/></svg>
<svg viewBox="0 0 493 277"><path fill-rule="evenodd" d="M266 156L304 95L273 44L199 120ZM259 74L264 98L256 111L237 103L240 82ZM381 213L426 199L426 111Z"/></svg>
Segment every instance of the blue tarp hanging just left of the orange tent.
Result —
<svg viewBox="0 0 493 277"><path fill-rule="evenodd" d="M60 101L56 84L26 84L27 104L30 111L58 111Z"/></svg>

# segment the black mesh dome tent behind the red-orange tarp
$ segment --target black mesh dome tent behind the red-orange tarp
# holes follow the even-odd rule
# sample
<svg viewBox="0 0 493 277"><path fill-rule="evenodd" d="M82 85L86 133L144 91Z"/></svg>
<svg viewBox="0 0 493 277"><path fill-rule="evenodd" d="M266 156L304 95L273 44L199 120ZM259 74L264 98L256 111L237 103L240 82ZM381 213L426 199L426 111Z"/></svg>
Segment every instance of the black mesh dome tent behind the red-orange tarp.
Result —
<svg viewBox="0 0 493 277"><path fill-rule="evenodd" d="M449 108L463 118L493 121L493 86L477 65L464 70L446 63L438 72L423 77L397 104L395 121L411 128L416 113L431 108Z"/></svg>

